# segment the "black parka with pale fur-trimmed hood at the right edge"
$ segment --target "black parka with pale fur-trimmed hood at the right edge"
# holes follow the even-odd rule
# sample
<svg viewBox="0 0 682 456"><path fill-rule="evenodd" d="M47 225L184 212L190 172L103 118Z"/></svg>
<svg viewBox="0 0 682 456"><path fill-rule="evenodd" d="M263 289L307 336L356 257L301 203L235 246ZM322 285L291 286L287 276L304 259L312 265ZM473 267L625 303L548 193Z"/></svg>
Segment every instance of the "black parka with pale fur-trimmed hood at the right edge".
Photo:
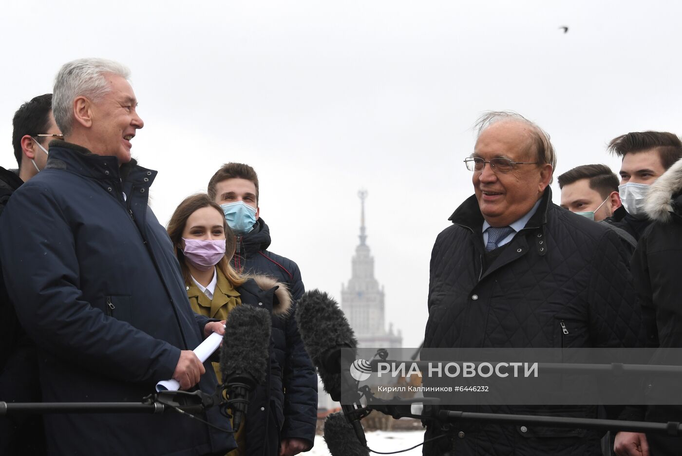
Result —
<svg viewBox="0 0 682 456"><path fill-rule="evenodd" d="M647 323L647 345L682 348L682 161L672 165L651 185L644 210L653 223L640 238L632 257L632 275ZM653 362L666 364L665 359ZM657 391L655 382L661 381L665 380L652 380L650 394ZM632 412L634 408L628 409ZM649 406L626 418L680 421L682 406ZM682 448L681 438L647 434L647 440L652 455L679 454Z"/></svg>

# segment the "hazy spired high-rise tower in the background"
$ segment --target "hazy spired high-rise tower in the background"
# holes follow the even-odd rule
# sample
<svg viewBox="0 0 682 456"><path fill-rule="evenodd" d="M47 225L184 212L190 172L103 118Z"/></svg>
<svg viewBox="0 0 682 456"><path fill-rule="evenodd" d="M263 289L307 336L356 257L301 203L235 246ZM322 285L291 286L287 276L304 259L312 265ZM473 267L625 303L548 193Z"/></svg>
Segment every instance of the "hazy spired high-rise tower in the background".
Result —
<svg viewBox="0 0 682 456"><path fill-rule="evenodd" d="M402 348L402 334L394 334L392 324L386 331L383 286L374 278L374 258L365 234L366 190L360 198L360 243L355 247L351 279L341 285L341 307L348 318L359 348Z"/></svg>

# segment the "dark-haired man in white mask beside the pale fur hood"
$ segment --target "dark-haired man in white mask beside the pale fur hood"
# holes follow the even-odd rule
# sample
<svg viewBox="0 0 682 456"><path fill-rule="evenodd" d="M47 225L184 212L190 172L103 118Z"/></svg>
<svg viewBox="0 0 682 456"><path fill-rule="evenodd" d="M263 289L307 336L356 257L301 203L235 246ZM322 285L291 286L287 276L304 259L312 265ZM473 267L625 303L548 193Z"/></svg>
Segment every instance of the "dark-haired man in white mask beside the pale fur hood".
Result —
<svg viewBox="0 0 682 456"><path fill-rule="evenodd" d="M634 132L613 138L608 151L623 157L619 193L623 210L608 219L635 239L651 224L644 213L649 185L682 157L682 142L668 132Z"/></svg>

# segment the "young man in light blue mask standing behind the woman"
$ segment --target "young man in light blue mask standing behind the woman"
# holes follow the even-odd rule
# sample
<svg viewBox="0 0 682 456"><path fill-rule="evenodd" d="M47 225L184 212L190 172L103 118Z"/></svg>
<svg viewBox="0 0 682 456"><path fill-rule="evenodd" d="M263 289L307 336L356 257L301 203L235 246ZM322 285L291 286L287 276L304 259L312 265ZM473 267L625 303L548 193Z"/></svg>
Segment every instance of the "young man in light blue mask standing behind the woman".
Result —
<svg viewBox="0 0 682 456"><path fill-rule="evenodd" d="M241 163L225 164L211 177L207 193L220 204L227 224L237 236L235 270L275 277L288 286L293 299L300 299L305 290L297 264L267 250L270 230L259 217L258 175L254 168ZM273 316L272 320L272 338L285 391L280 456L310 450L317 419L317 375L303 348L295 312L293 306L286 318Z"/></svg>

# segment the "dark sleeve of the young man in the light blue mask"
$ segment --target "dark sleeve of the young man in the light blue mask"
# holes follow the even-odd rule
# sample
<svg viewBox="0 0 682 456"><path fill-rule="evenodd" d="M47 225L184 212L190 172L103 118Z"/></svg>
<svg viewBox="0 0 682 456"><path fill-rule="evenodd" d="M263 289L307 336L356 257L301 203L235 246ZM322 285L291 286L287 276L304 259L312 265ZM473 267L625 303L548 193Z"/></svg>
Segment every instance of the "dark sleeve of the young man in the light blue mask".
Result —
<svg viewBox="0 0 682 456"><path fill-rule="evenodd" d="M295 312L294 304L286 322L287 358L284 371L286 395L284 395L282 439L308 440L312 447L317 423L317 374L308 352L303 348Z"/></svg>

